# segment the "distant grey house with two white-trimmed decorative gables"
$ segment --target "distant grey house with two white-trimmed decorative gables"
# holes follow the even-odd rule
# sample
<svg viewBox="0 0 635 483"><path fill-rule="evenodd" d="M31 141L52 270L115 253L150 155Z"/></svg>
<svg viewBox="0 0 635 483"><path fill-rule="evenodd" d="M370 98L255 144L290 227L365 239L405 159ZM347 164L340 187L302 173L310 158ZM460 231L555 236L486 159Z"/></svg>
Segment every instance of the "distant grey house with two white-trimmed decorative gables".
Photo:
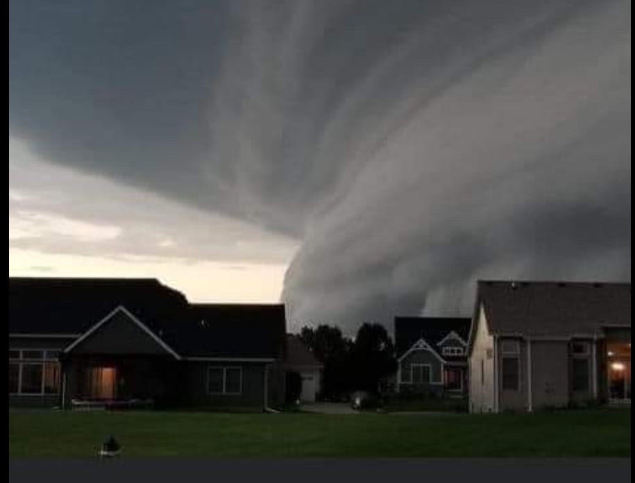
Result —
<svg viewBox="0 0 635 483"><path fill-rule="evenodd" d="M470 319L396 317L396 391L463 396Z"/></svg>

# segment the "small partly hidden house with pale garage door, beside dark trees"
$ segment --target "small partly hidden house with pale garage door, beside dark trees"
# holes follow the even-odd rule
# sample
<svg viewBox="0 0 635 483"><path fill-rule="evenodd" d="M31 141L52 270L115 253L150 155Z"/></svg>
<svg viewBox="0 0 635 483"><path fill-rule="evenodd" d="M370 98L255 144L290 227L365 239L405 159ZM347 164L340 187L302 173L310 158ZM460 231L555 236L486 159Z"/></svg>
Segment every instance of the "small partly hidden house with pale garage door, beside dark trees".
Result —
<svg viewBox="0 0 635 483"><path fill-rule="evenodd" d="M302 402L314 402L321 393L322 368L314 354L296 334L287 334L287 357L285 371L293 371L302 378Z"/></svg>

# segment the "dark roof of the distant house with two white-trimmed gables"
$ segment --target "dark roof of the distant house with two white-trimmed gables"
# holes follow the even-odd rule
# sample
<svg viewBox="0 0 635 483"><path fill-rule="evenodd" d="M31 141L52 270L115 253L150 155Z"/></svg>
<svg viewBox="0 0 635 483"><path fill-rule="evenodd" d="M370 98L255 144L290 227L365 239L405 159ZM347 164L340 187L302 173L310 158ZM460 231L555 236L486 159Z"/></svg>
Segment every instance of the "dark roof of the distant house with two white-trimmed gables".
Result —
<svg viewBox="0 0 635 483"><path fill-rule="evenodd" d="M395 346L400 357L416 341L423 339L437 353L438 344L451 332L467 341L471 319L456 317L395 317ZM447 359L448 357L443 357Z"/></svg>

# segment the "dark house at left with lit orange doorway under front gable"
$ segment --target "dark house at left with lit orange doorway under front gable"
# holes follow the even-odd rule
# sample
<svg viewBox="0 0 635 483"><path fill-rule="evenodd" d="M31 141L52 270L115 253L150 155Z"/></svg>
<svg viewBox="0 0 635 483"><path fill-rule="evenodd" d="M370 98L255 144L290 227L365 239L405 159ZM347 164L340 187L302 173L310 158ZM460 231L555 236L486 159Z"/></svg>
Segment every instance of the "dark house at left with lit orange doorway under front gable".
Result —
<svg viewBox="0 0 635 483"><path fill-rule="evenodd" d="M285 307L190 304L154 279L9 278L9 404L271 407Z"/></svg>

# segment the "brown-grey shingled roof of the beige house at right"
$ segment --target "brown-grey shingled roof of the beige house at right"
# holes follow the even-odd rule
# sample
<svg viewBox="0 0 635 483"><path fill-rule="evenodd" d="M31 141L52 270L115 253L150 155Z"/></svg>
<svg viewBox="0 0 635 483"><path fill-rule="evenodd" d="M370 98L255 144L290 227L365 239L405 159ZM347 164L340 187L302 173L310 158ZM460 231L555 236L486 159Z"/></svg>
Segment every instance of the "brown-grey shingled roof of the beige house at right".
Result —
<svg viewBox="0 0 635 483"><path fill-rule="evenodd" d="M481 305L494 334L593 334L606 326L630 327L631 284L481 280L477 310Z"/></svg>

